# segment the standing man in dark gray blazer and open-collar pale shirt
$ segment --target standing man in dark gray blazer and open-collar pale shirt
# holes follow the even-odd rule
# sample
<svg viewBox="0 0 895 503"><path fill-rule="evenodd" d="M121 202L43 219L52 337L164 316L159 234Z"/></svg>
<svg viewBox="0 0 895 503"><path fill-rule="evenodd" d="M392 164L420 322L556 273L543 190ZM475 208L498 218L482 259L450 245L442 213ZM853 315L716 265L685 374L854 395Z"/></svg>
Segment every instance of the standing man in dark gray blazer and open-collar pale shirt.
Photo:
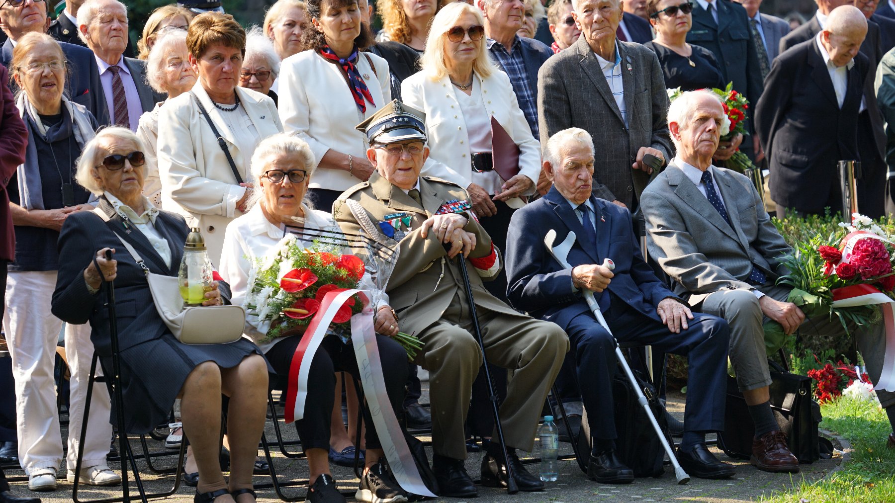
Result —
<svg viewBox="0 0 895 503"><path fill-rule="evenodd" d="M572 16L581 37L538 72L541 145L570 127L589 132L593 195L634 211L652 174L644 156L664 166L672 151L661 65L652 50L616 39L620 0L573 0Z"/></svg>

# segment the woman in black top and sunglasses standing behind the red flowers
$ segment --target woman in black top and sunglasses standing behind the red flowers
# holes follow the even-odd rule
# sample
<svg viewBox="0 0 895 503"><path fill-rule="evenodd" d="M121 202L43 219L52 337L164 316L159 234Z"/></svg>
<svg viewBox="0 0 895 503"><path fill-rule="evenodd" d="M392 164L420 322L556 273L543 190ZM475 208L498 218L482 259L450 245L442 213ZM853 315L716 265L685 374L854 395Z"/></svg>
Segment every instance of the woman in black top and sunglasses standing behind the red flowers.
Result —
<svg viewBox="0 0 895 503"><path fill-rule="evenodd" d="M665 87L723 89L727 83L712 52L686 43L686 33L693 24L693 4L685 0L650 0L646 8L656 37L644 46L659 56Z"/></svg>

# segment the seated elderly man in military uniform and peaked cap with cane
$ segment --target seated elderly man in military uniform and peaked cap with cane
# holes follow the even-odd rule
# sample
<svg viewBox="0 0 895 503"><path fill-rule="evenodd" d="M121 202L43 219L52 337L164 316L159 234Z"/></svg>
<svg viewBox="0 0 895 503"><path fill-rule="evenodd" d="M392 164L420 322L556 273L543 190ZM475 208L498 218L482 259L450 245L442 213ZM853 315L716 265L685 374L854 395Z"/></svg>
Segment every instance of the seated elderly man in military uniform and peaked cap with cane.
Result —
<svg viewBox="0 0 895 503"><path fill-rule="evenodd" d="M506 446L493 436L482 458L482 485L506 487L506 448L520 490L541 490L540 478L519 463L516 449L533 448L538 417L568 351L557 325L513 311L482 286L497 276L499 252L470 212L462 187L420 176L429 156L425 115L392 101L357 126L369 141L376 171L345 191L333 215L350 233L375 235L397 252L386 291L401 331L425 344L417 362L430 371L433 471L439 496L478 494L466 473L464 424L482 352L459 268L467 269L489 362L513 371L500 406Z"/></svg>

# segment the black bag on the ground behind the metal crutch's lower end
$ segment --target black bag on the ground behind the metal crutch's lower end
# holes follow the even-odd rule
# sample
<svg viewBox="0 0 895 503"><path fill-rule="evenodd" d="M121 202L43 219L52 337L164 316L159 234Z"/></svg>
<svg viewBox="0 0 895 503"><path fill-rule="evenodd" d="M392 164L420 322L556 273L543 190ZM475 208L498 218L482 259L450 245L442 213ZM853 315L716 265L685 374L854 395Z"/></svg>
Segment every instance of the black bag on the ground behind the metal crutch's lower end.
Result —
<svg viewBox="0 0 895 503"><path fill-rule="evenodd" d="M634 372L635 379L644 392L647 402L655 415L656 421L671 441L668 422L665 420L665 409L659 403L655 388L641 371ZM616 453L628 468L634 471L635 477L660 477L665 469L662 460L665 449L652 429L650 419L646 417L644 407L637 403L637 394L624 372L618 369L612 379L612 396L615 404ZM592 441L590 426L587 422L587 410L581 418L581 431L578 435L578 466L587 473L587 465L591 462Z"/></svg>

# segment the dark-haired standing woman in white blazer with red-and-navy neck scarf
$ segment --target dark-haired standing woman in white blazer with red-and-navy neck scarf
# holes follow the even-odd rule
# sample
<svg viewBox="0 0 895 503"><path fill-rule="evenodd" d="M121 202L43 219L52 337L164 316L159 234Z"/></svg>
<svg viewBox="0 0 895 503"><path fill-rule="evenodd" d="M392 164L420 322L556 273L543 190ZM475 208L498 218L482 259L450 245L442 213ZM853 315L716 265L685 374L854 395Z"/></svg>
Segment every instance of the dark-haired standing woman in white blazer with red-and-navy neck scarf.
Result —
<svg viewBox="0 0 895 503"><path fill-rule="evenodd" d="M303 32L303 52L280 65L279 113L286 132L308 142L317 159L309 193L331 211L346 189L370 178L366 136L354 129L391 101L388 63L362 52L373 43L358 4L306 3L313 26ZM365 88L354 92L348 80Z"/></svg>

